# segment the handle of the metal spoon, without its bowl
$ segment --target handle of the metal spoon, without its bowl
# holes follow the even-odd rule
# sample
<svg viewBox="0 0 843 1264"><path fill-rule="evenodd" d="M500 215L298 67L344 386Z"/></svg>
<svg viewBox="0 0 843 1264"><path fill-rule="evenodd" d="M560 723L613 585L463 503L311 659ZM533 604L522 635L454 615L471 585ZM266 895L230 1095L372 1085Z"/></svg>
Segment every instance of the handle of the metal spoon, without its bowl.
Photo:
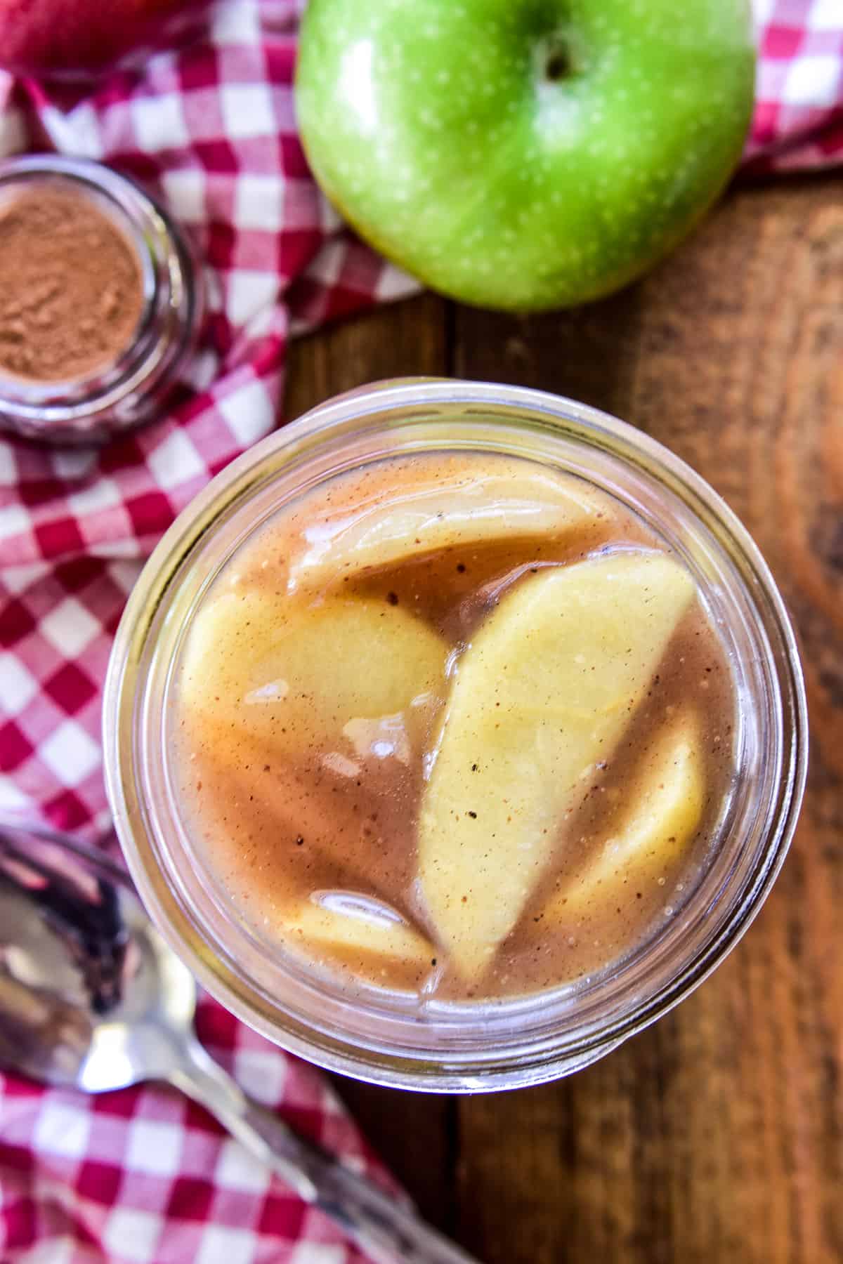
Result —
<svg viewBox="0 0 843 1264"><path fill-rule="evenodd" d="M260 1159L318 1207L374 1264L478 1264L394 1194L358 1177L252 1101L197 1040L190 1039L169 1082L200 1102Z"/></svg>

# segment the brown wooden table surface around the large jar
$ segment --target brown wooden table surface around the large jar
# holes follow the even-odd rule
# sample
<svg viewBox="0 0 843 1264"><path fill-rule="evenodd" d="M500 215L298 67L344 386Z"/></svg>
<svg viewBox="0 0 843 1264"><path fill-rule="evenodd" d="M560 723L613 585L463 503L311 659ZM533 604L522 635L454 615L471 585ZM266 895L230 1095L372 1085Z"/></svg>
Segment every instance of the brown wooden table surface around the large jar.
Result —
<svg viewBox="0 0 843 1264"><path fill-rule="evenodd" d="M843 197L732 192L646 281L513 319L425 295L293 351L288 415L402 374L542 387L667 444L725 497L801 636L801 823L719 971L569 1079L446 1098L337 1088L423 1212L487 1264L843 1260Z"/></svg>

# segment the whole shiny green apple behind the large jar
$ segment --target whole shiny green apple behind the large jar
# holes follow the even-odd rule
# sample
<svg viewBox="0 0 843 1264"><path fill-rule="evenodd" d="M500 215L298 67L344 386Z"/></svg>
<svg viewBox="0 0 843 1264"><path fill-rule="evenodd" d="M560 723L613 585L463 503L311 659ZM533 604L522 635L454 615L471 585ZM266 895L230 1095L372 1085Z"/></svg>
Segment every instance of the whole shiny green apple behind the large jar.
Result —
<svg viewBox="0 0 843 1264"><path fill-rule="evenodd" d="M464 302L580 303L710 206L752 111L748 0L311 0L296 101L363 238Z"/></svg>

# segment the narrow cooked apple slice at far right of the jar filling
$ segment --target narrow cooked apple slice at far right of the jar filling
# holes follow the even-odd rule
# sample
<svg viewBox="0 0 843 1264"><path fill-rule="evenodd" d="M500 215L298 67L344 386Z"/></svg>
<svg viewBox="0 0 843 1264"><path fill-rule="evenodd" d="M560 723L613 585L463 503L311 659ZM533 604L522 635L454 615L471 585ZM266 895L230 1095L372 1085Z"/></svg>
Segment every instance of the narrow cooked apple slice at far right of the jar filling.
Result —
<svg viewBox="0 0 843 1264"><path fill-rule="evenodd" d="M664 877L696 833L705 805L699 719L682 710L658 736L591 862L545 902L537 929L581 916Z"/></svg>

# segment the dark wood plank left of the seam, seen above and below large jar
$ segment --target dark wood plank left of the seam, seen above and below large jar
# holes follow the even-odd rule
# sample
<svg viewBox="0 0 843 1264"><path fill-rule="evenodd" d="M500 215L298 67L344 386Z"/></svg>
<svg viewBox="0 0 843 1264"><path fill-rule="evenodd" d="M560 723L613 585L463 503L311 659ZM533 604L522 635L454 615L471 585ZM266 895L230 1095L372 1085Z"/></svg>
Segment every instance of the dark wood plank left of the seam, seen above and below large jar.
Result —
<svg viewBox="0 0 843 1264"><path fill-rule="evenodd" d="M431 295L344 321L291 349L286 413L378 378L447 372L446 313ZM445 1229L455 1221L455 1103L355 1083L335 1087L367 1136L422 1212Z"/></svg>

